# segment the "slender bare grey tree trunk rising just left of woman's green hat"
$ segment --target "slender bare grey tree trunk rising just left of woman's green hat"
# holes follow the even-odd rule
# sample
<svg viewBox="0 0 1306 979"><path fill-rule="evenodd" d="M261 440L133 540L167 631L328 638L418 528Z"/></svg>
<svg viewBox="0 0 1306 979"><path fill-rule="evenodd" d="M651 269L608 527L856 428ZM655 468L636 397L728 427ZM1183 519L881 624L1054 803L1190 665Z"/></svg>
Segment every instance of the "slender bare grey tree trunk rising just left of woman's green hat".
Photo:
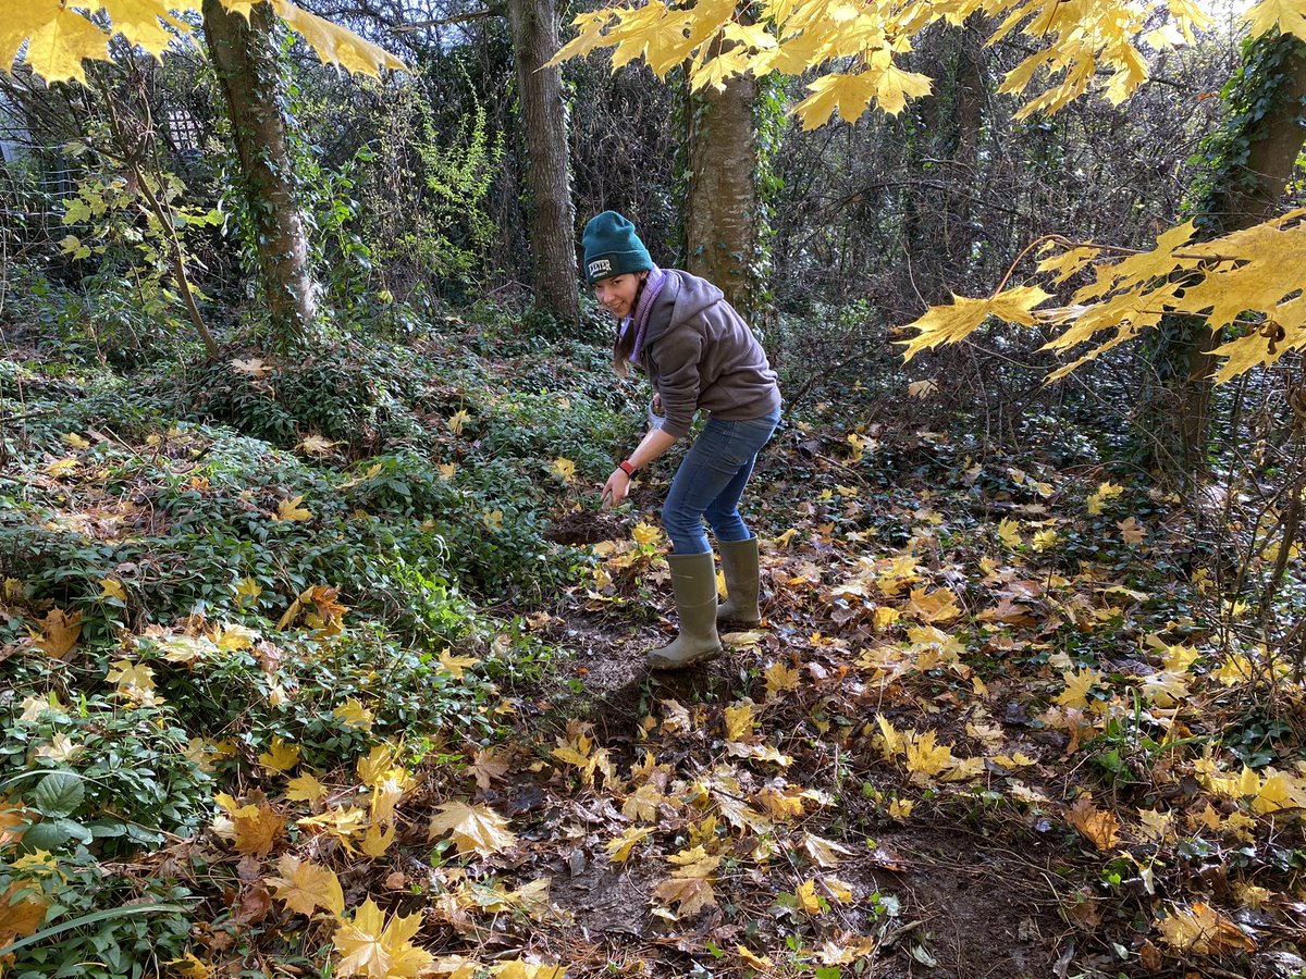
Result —
<svg viewBox="0 0 1306 979"><path fill-rule="evenodd" d="M558 51L554 0L508 0L517 98L526 128L528 227L535 295L554 316L576 322L576 213L571 196L567 102L562 70L543 68Z"/></svg>

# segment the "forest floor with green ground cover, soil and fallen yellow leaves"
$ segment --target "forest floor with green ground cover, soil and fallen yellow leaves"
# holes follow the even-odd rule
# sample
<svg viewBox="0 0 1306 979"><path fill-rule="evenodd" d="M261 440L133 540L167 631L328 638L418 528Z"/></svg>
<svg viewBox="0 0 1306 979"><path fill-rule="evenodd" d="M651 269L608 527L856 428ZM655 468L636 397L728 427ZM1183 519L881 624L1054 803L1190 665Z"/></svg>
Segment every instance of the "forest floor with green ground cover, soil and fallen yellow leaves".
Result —
<svg viewBox="0 0 1306 979"><path fill-rule="evenodd" d="M654 520L674 463L598 513L564 458L582 394L532 393L513 414L485 376L538 392L538 364L454 390L448 356L415 410L439 440L411 458L376 456L359 429L350 458L323 462L337 443L308 426L278 450L119 416L118 388L97 401L42 381L81 407L7 443L24 488L7 497L22 536L7 543L0 886L26 916L0 915L0 949L46 939L16 974L115 974L68 942L125 948L119 932L59 927L74 886L108 880L127 886L119 916L175 915L138 939L172 950L155 971L187 976L1306 969L1299 677L1241 638L1251 612L1177 497L1087 461L1074 433L983 452L874 402L816 405L746 496L761 625L727 632L714 662L650 674L644 651L675 628ZM238 407L291 403L291 368L231 363L188 382L235 373ZM545 431L546 399L556 426L504 462L522 419ZM515 469L525 482L496 489ZM529 585L535 538L508 535L535 526L512 509L532 492L554 546L584 560L462 619L404 548L438 531L451 546L430 561L499 561ZM137 539L125 525L153 535L131 561L112 550ZM407 556L350 578L387 553ZM367 603L428 651L349 607ZM145 753L145 728L180 747ZM89 761L107 731L125 732L127 768L172 773L150 812L91 801L125 779L121 758ZM200 779L189 795L183 775ZM165 807L178 829L144 833ZM110 850L124 834L150 845ZM149 974L133 969L119 974Z"/></svg>

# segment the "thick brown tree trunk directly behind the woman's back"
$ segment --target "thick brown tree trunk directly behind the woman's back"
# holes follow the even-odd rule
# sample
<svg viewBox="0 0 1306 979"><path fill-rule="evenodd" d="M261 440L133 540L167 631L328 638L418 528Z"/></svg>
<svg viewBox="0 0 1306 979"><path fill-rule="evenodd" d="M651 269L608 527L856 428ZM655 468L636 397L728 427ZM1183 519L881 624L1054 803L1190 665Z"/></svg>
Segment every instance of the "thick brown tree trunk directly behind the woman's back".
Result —
<svg viewBox="0 0 1306 979"><path fill-rule="evenodd" d="M737 76L725 91L690 94L687 272L701 275L746 317L757 298L757 81Z"/></svg>

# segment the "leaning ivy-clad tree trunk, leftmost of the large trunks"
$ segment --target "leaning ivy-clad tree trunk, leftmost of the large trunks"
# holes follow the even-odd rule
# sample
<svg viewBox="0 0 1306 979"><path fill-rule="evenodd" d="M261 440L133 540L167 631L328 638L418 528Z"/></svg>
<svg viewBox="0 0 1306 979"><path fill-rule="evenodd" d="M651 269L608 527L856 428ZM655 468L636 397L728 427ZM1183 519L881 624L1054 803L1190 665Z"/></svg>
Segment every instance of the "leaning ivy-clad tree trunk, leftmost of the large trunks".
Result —
<svg viewBox="0 0 1306 979"><path fill-rule="evenodd" d="M294 345L313 334L317 303L281 112L274 27L276 13L266 3L252 7L246 21L218 0L204 0L204 37L231 120L272 326L283 343Z"/></svg>

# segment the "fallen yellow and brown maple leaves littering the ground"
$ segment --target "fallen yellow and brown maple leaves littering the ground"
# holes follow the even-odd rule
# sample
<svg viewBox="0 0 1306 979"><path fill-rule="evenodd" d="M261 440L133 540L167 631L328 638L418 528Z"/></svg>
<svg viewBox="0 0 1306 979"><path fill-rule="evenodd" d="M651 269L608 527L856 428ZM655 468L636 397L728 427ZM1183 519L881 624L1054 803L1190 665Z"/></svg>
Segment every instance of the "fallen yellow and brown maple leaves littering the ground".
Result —
<svg viewBox="0 0 1306 979"><path fill-rule="evenodd" d="M922 443L828 440L868 463ZM560 514L558 539L596 560L560 604L522 612L571 658L504 689L492 744L370 739L358 701L336 715L368 747L333 771L296 770L298 745L273 740L206 834L136 868L197 888L199 868L232 869L227 911L210 902L174 967L231 974L235 939L274 958L287 931L336 975L377 979L1290 965L1306 766L1292 739L1252 768L1222 735L1272 691L1299 711L1301 692L1179 611L1174 593L1207 593L1199 574L1147 570L1182 548L1181 522L1144 525L1122 487L1050 466L926 462L854 487L820 459L789 443L763 459L764 620L684 674L640 664L674 628L648 606L667 595L652 523ZM311 518L300 504L259 509ZM1110 548L1085 547L1104 529ZM313 586L283 625L330 641L346 612ZM74 654L74 615L30 619L33 650ZM183 668L259 641L201 621L157 638ZM479 664L439 662L454 681ZM114 670L124 709L150 702L149 667ZM44 912L7 906L0 936Z"/></svg>

